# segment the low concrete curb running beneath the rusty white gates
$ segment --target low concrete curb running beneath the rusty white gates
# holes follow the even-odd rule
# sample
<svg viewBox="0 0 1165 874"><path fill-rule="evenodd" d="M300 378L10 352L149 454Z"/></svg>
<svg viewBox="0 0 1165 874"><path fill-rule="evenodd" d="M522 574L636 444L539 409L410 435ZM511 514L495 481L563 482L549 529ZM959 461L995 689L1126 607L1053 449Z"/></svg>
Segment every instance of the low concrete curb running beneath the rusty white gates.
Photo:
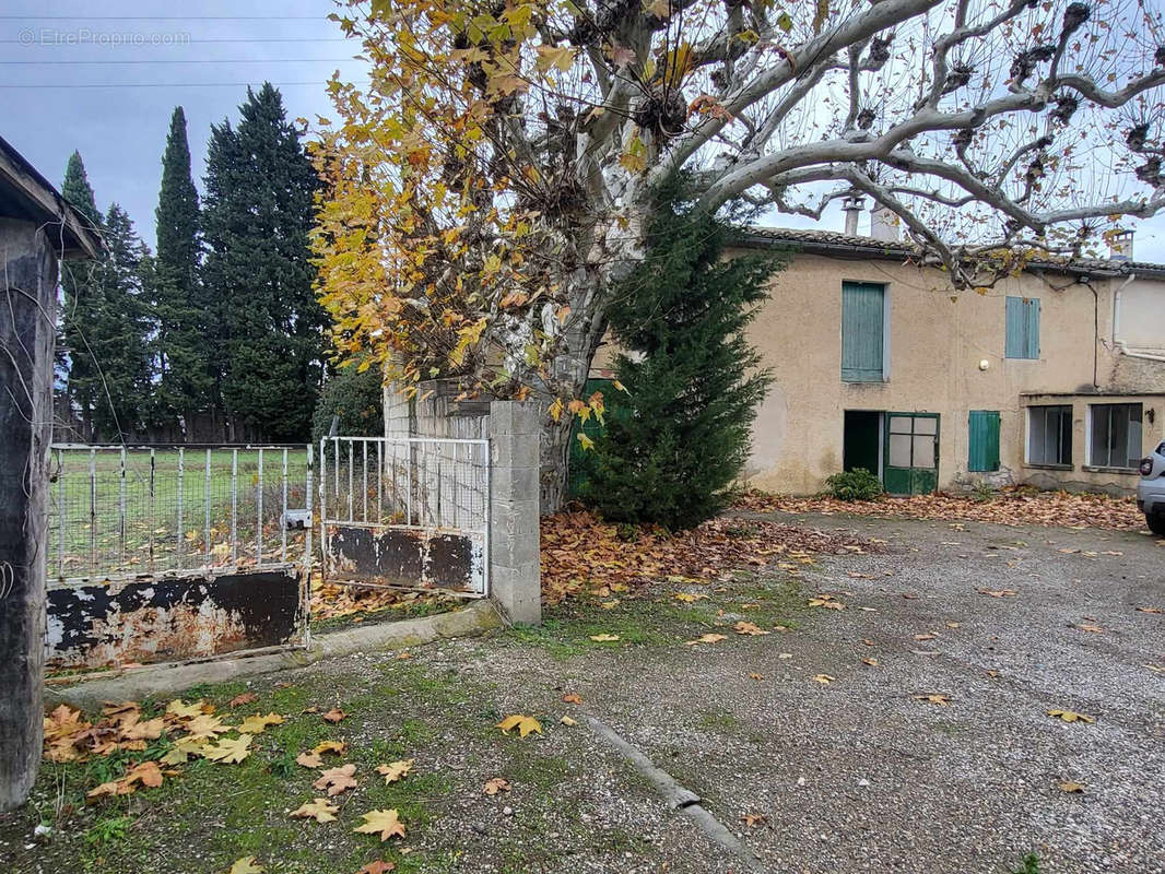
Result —
<svg viewBox="0 0 1165 874"><path fill-rule="evenodd" d="M334 656L417 647L443 637L466 637L500 628L502 625L503 620L497 607L492 600L483 599L461 609L435 616L404 619L398 622L320 634L312 639L308 649L292 649L249 658L220 658L197 664L157 665L115 677L83 679L70 686L49 686L44 690L44 702L49 706L65 703L75 707L91 709L107 700L141 700L151 695L176 695L202 683L226 683L239 677L305 668Z"/></svg>

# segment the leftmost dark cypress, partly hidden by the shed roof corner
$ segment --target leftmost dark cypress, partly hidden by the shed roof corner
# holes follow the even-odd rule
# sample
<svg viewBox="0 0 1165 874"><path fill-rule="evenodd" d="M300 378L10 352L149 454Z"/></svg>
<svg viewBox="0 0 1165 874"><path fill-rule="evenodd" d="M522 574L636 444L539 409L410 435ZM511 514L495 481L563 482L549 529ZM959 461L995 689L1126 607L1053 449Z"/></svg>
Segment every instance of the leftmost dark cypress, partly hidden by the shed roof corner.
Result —
<svg viewBox="0 0 1165 874"><path fill-rule="evenodd" d="M85 163L80 153L73 151L65 167L61 193L92 228L101 230L101 217L89 183ZM62 268L61 289L61 339L69 376L65 389L65 406L80 415L83 439L92 438L93 410L99 402L101 388L100 362L89 348L89 329L101 310L100 288L93 284L92 265L65 263Z"/></svg>

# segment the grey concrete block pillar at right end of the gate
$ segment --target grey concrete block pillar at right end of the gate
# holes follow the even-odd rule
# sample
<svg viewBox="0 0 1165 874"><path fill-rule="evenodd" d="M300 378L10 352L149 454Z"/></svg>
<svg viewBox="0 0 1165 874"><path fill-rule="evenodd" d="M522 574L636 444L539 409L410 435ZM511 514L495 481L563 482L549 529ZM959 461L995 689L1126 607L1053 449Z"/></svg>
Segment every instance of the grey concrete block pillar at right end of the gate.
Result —
<svg viewBox="0 0 1165 874"><path fill-rule="evenodd" d="M538 438L534 401L489 407L489 587L510 621L542 621L538 569Z"/></svg>

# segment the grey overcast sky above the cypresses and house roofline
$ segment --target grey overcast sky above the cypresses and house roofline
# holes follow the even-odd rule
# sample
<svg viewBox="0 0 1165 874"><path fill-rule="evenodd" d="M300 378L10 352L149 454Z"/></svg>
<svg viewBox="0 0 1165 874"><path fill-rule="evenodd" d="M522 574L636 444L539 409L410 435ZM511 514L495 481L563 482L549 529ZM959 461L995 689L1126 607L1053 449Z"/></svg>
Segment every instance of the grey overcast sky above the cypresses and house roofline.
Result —
<svg viewBox="0 0 1165 874"><path fill-rule="evenodd" d="M0 135L58 186L78 149L98 207L120 203L150 248L175 106L202 189L210 126L238 118L248 84L271 82L289 118L313 120L330 113L333 70L362 79L358 45L326 17L330 0L5 0L2 9ZM777 214L765 224L813 226ZM822 226L841 225L834 207ZM1136 258L1165 262L1165 217L1137 227Z"/></svg>

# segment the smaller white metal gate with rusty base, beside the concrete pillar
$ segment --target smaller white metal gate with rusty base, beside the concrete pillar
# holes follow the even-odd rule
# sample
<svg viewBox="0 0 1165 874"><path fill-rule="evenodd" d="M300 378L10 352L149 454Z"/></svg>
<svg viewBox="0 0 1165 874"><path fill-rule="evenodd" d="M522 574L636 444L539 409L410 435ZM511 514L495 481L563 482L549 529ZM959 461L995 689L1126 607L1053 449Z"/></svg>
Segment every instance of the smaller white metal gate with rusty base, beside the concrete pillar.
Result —
<svg viewBox="0 0 1165 874"><path fill-rule="evenodd" d="M489 442L325 437L324 579L489 593Z"/></svg>

